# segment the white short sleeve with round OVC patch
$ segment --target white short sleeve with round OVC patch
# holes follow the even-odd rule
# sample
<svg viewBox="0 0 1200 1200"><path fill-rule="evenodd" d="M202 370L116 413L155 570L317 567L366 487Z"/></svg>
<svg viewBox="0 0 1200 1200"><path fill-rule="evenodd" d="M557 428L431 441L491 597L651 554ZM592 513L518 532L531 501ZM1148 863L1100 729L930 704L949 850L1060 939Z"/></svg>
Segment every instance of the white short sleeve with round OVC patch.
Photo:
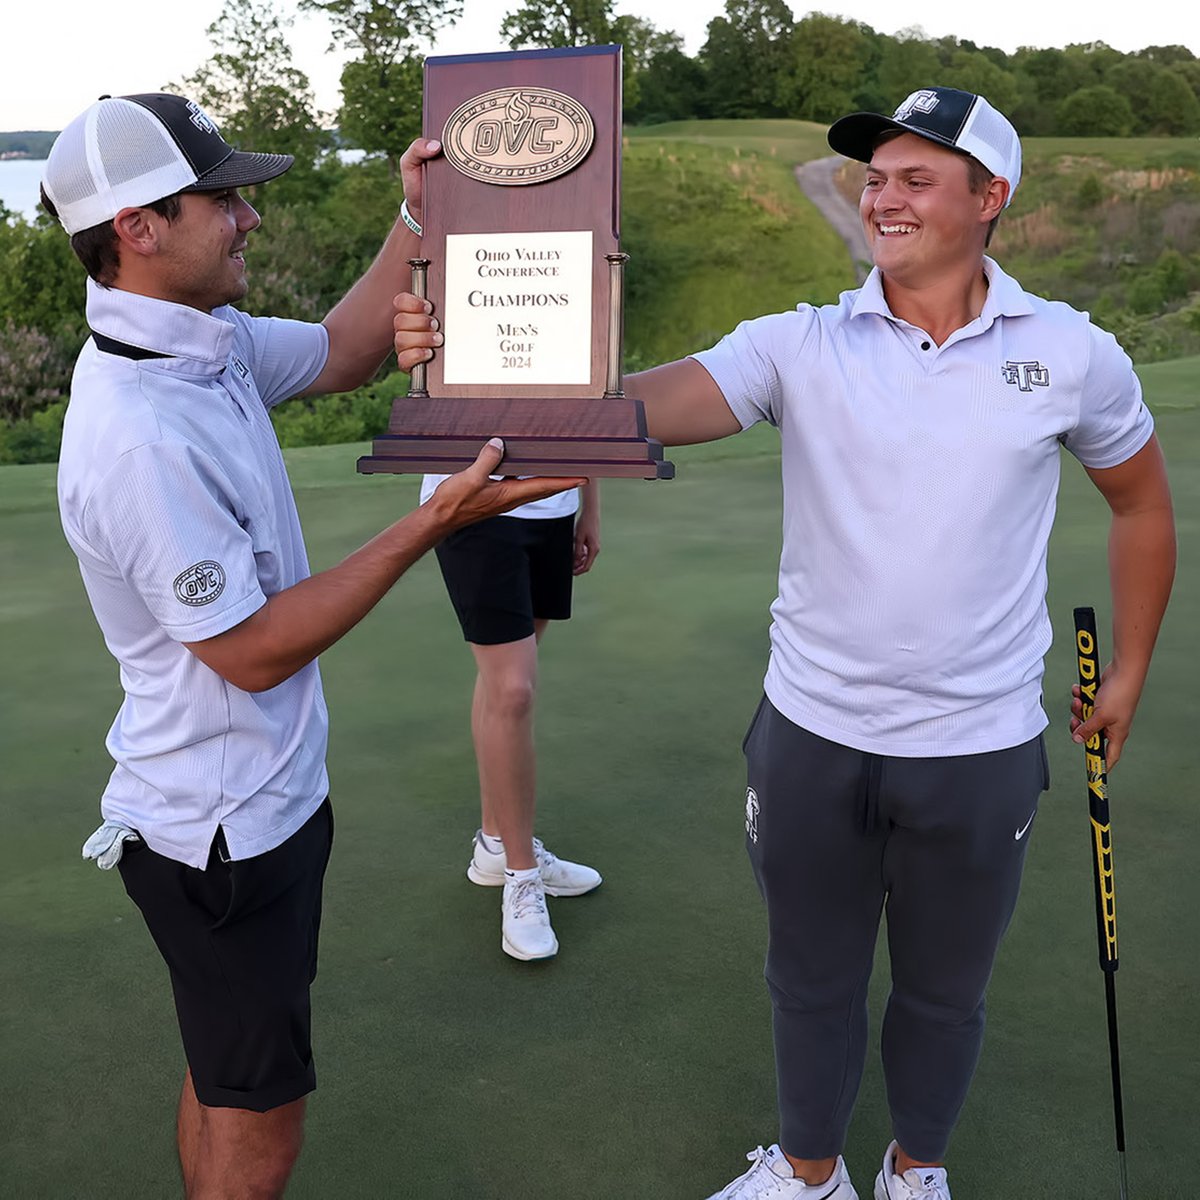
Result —
<svg viewBox="0 0 1200 1200"><path fill-rule="evenodd" d="M155 442L113 464L82 528L168 637L198 642L266 602L240 517L216 463L194 446Z"/></svg>

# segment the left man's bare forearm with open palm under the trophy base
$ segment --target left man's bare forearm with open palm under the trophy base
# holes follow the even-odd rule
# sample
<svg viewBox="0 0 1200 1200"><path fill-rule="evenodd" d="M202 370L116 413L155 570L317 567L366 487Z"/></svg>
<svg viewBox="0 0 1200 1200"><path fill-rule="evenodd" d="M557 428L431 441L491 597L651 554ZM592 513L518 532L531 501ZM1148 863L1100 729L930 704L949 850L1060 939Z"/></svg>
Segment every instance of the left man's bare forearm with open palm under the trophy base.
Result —
<svg viewBox="0 0 1200 1200"><path fill-rule="evenodd" d="M234 686L265 691L290 678L353 629L448 533L586 482L490 479L503 454L503 443L492 439L473 466L448 479L419 509L337 566L277 592L233 629L184 644Z"/></svg>

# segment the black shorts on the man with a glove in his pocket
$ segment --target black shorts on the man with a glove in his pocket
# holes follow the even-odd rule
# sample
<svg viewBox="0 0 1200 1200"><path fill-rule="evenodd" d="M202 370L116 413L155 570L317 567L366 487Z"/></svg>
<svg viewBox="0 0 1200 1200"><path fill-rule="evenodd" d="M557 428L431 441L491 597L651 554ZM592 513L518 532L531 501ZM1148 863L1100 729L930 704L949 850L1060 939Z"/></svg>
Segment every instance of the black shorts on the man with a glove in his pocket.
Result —
<svg viewBox="0 0 1200 1200"><path fill-rule="evenodd" d="M203 871L125 844L121 878L170 972L202 1104L266 1112L317 1086L308 986L332 841L326 798L254 858L226 862L218 829Z"/></svg>

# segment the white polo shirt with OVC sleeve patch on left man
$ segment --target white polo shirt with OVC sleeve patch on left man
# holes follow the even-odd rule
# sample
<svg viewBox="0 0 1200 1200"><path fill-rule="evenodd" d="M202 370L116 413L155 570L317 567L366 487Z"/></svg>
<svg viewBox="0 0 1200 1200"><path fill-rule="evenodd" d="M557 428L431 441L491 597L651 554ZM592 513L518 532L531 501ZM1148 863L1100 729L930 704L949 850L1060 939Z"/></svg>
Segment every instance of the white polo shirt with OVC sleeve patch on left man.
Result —
<svg viewBox="0 0 1200 1200"><path fill-rule="evenodd" d="M268 409L320 373L328 335L90 281L88 323L168 355L89 341L62 430L62 528L125 689L101 810L192 866L218 824L230 856L250 858L329 791L320 674L312 662L251 694L180 643L232 629L310 574Z"/></svg>

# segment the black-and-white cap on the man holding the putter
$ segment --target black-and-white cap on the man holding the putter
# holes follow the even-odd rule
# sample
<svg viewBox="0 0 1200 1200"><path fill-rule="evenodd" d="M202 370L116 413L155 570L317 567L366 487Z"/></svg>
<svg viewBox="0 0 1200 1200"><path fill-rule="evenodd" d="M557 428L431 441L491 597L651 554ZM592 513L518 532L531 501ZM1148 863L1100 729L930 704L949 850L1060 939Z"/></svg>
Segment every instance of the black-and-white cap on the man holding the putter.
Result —
<svg viewBox="0 0 1200 1200"><path fill-rule="evenodd" d="M829 145L847 158L870 162L878 136L887 130L916 133L978 158L994 175L1008 180L1004 203L1006 206L1013 203L1021 181L1021 139L1008 118L983 96L958 88L922 88L892 116L851 113L834 121L829 126Z"/></svg>

